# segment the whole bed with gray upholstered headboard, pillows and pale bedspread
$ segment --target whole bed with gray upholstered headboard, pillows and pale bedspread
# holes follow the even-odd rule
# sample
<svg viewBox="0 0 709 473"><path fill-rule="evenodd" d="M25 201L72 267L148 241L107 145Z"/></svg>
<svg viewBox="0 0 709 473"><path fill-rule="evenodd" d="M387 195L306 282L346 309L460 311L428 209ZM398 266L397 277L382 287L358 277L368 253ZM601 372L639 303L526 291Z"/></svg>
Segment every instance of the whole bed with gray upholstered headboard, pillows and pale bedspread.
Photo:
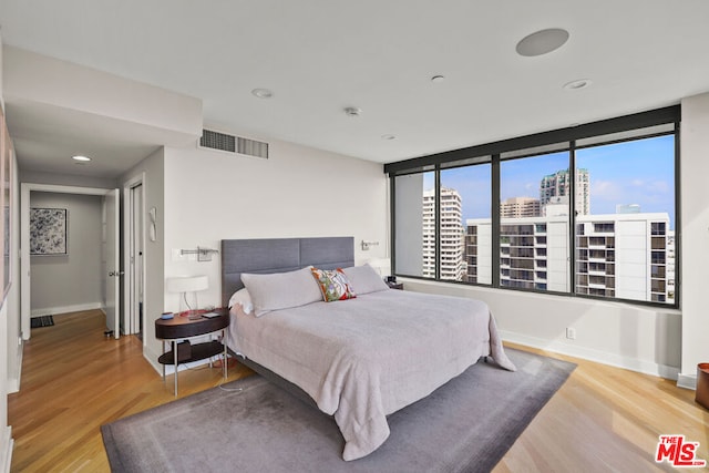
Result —
<svg viewBox="0 0 709 473"><path fill-rule="evenodd" d="M222 241L229 350L332 415L347 461L387 440L387 415L481 357L515 369L484 302L389 289L354 266L353 247L352 237ZM347 286L342 300L323 300L310 267Z"/></svg>

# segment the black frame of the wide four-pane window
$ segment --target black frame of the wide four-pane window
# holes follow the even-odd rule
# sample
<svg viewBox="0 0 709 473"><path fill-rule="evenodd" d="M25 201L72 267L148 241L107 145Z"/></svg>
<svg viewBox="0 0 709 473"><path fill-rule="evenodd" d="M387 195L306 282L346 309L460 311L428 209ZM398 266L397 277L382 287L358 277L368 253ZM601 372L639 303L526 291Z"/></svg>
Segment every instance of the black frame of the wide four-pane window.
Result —
<svg viewBox="0 0 709 473"><path fill-rule="evenodd" d="M532 292L542 292L548 295L559 295L565 297L583 297L590 299L599 299L605 301L619 301L619 302L629 302L635 305L643 306L653 306L653 307L662 307L662 308L679 308L680 307L680 275L681 275L681 213L680 213L680 121L681 121L681 106L672 105L664 109L651 110L647 112L634 113L630 115L619 116L615 119L603 120L598 122L582 124L577 126L571 126L559 130L554 130L549 132L536 133L525 136L520 136L510 140L503 140L493 143L486 143L475 146L469 146L459 150L452 150L443 153L431 154L427 156L415 157L411 160L404 160L393 163L384 164L383 171L389 176L390 181L390 212L391 212L391 232L390 232L390 248L391 251L391 268L392 274L395 274L401 277L408 277L413 279L422 279L427 281L439 281L446 284L461 284L465 286L482 286L482 287L492 287L495 289L503 290L517 290L517 291L532 291ZM633 131L639 131L644 128L650 128L653 126L661 126L661 125L671 125L671 131L664 131L658 133L648 133L640 135L633 135L627 138L618 138L618 140L608 140L608 141L598 141L592 144L584 144L583 146L577 147L577 142L587 138L603 138L605 135L613 135L617 133L626 133ZM580 294L577 291L576 282L575 282L575 274L576 274L576 251L579 249L576 245L576 216L575 212L569 212L569 291L558 292L558 291L547 291L540 290L535 288L517 288L511 286L502 286L501 285L501 268L500 268L500 224L501 224L501 215L500 215L500 163L505 158L501 157L505 153L511 153L514 157L506 157L508 160L520 158L520 157L528 157L533 155L546 154L548 152L556 151L568 151L569 153L569 169L576 169L575 162L575 152L578 148L585 148L590 146L598 146L612 143L623 143L626 141L635 141L639 138L649 138L654 136L664 136L664 135L674 135L675 136L675 302L666 304L660 301L646 301L646 300L636 300L636 299L621 299L606 296L594 296L592 294ZM567 144L567 146L564 146ZM544 147L552 147L552 151L544 151ZM554 147L559 146L559 147ZM525 150L534 150L540 148L540 152L532 152L530 154L525 154ZM517 153L517 154L515 154ZM397 240L397 229L395 229L395 177L400 175L407 174L417 174L420 172L434 172L434 198L435 198L435 226L436 230L440 230L440 184L441 184L441 171L453 168L453 167L462 167L471 164L480 164L482 162L490 163L492 165L492 282L490 284L481 284L481 282L469 282L469 281L452 281L450 279L441 279L440 278L440 232L435 234L436 240L436 251L435 251L435 268L436 276L435 278L430 277L421 277L413 275L405 275L401 273L397 273L397 261L395 261L395 240ZM575 208L575 179L571 179L571 192L569 192L569 208ZM467 230L466 230L467 232Z"/></svg>

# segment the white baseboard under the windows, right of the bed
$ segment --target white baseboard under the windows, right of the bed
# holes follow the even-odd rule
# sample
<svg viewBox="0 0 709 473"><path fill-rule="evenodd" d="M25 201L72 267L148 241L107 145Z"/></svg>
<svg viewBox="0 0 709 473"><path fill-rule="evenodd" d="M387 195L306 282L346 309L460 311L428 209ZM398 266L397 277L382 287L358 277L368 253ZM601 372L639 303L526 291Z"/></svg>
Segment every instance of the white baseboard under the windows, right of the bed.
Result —
<svg viewBox="0 0 709 473"><path fill-rule="evenodd" d="M624 368L626 370L637 371L645 374L653 374L670 380L677 380L677 378L679 377L679 368L658 364L651 361L639 360L637 358L623 357L600 350L577 347L559 341L538 339L505 330L500 330L500 337L502 337L503 340L510 341L512 343L525 345L527 347L553 351L555 353L583 358L585 360L596 361L598 363L608 364L612 367Z"/></svg>

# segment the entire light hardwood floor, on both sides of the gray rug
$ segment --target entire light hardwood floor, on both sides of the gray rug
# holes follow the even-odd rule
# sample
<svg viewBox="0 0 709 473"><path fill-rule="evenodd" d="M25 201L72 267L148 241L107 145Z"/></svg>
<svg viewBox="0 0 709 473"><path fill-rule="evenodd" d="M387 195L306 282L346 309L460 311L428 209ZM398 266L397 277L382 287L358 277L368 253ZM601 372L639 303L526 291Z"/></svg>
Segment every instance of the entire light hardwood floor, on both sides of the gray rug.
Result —
<svg viewBox="0 0 709 473"><path fill-rule="evenodd" d="M54 317L32 330L22 383L9 397L13 472L109 471L100 425L174 400L135 337L103 337L99 311ZM512 346L518 349L525 347ZM684 434L709 460L709 411L674 381L530 350L578 364L495 472L671 471L656 464L658 435ZM248 376L229 369L229 380ZM179 398L223 382L219 369L179 374Z"/></svg>

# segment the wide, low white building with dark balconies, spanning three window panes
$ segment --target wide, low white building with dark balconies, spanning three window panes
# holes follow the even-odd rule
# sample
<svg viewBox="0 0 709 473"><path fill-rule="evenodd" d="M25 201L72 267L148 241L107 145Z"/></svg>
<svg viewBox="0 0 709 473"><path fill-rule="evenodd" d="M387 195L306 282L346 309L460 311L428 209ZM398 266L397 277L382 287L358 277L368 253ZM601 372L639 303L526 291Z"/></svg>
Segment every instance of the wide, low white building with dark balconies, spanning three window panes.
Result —
<svg viewBox="0 0 709 473"><path fill-rule="evenodd" d="M469 282L492 282L489 218L466 220ZM500 232L500 284L568 291L568 218L504 218ZM669 216L586 215L576 218L577 294L656 302L675 301L675 234Z"/></svg>

